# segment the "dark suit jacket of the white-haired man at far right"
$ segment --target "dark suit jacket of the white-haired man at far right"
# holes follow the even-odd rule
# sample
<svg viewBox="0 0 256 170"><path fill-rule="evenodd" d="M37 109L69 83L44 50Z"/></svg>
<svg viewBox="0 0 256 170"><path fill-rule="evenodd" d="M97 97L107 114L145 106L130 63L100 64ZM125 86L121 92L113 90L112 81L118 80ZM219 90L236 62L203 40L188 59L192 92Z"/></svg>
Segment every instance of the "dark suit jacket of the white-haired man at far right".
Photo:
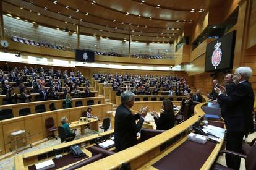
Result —
<svg viewBox="0 0 256 170"><path fill-rule="evenodd" d="M229 96L221 94L218 100L225 105L225 124L230 132L252 132L252 109L254 108L254 91L248 82L238 83Z"/></svg>

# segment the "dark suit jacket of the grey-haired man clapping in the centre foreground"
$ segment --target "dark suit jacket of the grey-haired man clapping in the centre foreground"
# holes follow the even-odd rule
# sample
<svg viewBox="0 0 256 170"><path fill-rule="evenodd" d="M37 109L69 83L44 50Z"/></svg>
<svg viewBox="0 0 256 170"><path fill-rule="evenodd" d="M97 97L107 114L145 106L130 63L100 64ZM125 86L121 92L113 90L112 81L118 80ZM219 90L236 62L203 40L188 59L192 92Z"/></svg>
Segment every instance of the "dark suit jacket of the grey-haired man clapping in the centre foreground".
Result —
<svg viewBox="0 0 256 170"><path fill-rule="evenodd" d="M139 119L137 124L136 119ZM136 134L142 128L143 122L144 119L140 118L139 114L132 114L124 104L117 107L114 117L114 143L117 151L137 144Z"/></svg>

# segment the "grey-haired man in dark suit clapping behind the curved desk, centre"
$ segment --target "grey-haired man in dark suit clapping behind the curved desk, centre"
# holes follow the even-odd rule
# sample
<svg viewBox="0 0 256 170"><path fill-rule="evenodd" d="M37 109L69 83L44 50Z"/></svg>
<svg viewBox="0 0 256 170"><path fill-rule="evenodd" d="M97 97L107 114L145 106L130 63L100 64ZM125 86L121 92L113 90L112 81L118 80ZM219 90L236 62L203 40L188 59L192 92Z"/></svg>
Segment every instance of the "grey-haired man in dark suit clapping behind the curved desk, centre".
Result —
<svg viewBox="0 0 256 170"><path fill-rule="evenodd" d="M142 128L144 117L148 108L143 108L140 113L132 114L130 108L134 106L134 93L125 91L121 95L121 103L116 109L114 117L114 143L117 151L136 145L136 134ZM139 121L135 122L136 119Z"/></svg>

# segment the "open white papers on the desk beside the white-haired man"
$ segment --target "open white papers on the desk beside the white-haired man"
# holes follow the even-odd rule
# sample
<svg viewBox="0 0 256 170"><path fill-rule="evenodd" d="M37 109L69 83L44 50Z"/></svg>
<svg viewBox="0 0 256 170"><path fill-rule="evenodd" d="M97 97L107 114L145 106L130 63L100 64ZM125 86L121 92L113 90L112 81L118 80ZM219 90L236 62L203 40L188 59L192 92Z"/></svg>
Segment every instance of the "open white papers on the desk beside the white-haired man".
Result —
<svg viewBox="0 0 256 170"><path fill-rule="evenodd" d="M226 129L216 127L213 125L204 125L202 127L203 132L208 134L208 137L216 140L217 142L220 142L221 139L225 137Z"/></svg>

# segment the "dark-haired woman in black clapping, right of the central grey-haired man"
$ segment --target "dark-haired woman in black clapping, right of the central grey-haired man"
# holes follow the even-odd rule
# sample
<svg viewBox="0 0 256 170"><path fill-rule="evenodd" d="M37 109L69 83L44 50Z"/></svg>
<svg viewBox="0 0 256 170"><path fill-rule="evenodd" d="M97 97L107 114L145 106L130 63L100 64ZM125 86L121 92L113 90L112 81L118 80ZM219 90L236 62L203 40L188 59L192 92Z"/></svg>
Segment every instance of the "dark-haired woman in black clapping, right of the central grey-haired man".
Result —
<svg viewBox="0 0 256 170"><path fill-rule="evenodd" d="M162 103L162 111L160 117L154 111L151 113L154 116L156 129L158 130L168 130L174 127L175 116L173 111L173 103L169 99L164 99Z"/></svg>

